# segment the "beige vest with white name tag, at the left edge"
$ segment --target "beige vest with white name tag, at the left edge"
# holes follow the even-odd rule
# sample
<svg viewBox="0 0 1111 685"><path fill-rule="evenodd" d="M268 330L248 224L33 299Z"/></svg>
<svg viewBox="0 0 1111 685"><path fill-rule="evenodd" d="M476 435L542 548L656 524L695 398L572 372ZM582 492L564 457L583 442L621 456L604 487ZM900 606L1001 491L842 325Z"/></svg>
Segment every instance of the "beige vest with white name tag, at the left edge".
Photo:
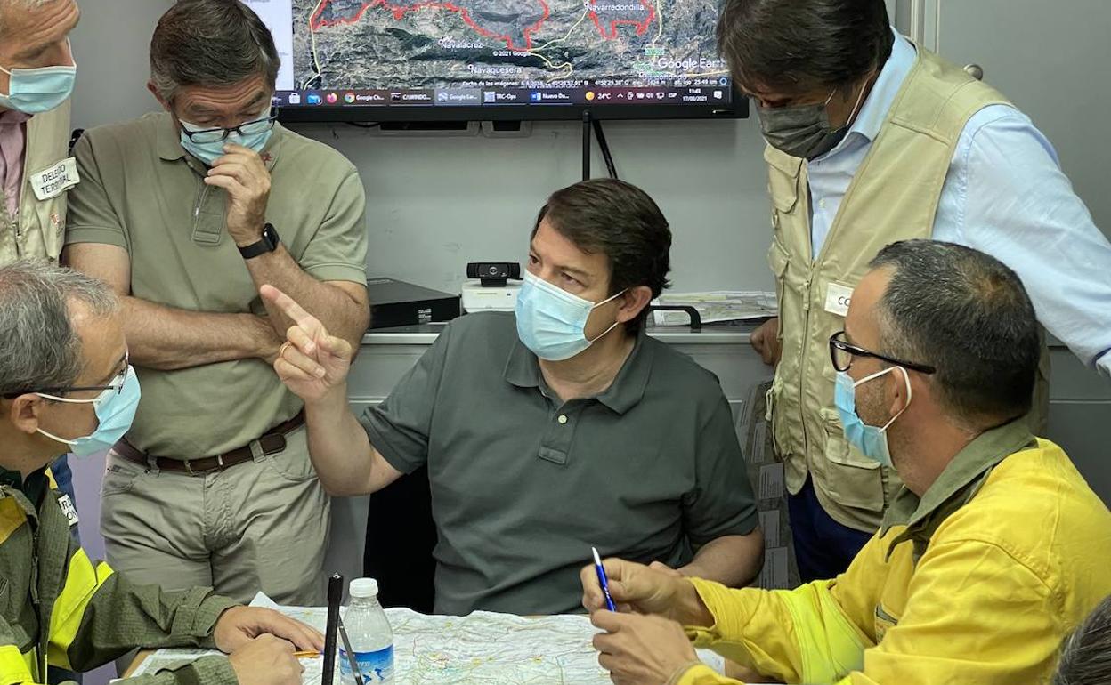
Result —
<svg viewBox="0 0 1111 685"><path fill-rule="evenodd" d="M69 157L70 103L36 114L27 121L23 184L19 214L10 216L0 202L0 264L23 256L58 261L66 232L66 187L76 181L76 164L69 172L59 165ZM64 174L70 178L60 178ZM47 178L43 179L43 175ZM52 197L39 200L40 192Z"/></svg>

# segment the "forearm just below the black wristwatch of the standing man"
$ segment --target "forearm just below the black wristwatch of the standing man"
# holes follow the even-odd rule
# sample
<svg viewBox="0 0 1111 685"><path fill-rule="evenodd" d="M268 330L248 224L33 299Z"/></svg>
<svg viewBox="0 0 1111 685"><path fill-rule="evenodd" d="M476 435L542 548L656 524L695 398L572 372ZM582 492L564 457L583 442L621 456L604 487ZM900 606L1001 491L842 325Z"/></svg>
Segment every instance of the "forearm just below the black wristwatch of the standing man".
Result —
<svg viewBox="0 0 1111 685"><path fill-rule="evenodd" d="M356 350L359 349L370 321L368 306L356 302L339 288L322 283L306 273L283 245L279 245L273 252L249 259L246 263L257 288L273 285L316 316L332 335L342 338ZM284 338L286 331L294 322L269 302L266 305L274 331Z"/></svg>

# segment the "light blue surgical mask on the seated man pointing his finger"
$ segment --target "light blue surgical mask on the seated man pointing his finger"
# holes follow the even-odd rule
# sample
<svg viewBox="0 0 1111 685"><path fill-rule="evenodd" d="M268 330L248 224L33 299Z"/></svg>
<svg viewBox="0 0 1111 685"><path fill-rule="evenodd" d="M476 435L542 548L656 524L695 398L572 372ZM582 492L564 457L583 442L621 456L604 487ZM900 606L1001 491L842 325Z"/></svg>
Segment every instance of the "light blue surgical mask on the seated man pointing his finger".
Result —
<svg viewBox="0 0 1111 685"><path fill-rule="evenodd" d="M524 284L517 294L517 335L542 360L561 362L571 359L617 328L618 322L614 321L598 338L587 339L590 312L623 293L622 290L594 304L527 271Z"/></svg>

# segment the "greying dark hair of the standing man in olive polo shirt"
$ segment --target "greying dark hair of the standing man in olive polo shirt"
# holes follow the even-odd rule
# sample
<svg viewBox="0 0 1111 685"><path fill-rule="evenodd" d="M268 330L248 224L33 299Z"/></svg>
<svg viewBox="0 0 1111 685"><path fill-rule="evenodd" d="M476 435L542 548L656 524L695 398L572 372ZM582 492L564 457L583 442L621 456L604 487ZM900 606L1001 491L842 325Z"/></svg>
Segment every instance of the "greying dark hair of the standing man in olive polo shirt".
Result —
<svg viewBox="0 0 1111 685"><path fill-rule="evenodd" d="M189 85L261 75L273 88L281 59L270 30L239 0L179 0L150 41L150 80L162 100Z"/></svg>

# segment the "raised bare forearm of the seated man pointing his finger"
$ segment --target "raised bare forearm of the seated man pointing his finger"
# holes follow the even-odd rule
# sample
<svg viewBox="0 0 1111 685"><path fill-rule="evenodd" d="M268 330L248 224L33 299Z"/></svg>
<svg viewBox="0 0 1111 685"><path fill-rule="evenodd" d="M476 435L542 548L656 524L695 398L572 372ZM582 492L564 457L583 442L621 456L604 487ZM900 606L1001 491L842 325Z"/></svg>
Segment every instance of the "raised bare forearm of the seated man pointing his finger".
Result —
<svg viewBox="0 0 1111 685"><path fill-rule="evenodd" d="M336 387L323 400L306 402L304 419L309 455L324 490L336 496L371 492L374 450L351 413L347 385Z"/></svg>

